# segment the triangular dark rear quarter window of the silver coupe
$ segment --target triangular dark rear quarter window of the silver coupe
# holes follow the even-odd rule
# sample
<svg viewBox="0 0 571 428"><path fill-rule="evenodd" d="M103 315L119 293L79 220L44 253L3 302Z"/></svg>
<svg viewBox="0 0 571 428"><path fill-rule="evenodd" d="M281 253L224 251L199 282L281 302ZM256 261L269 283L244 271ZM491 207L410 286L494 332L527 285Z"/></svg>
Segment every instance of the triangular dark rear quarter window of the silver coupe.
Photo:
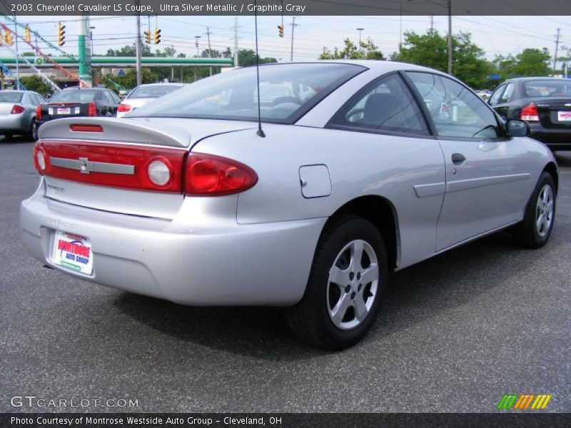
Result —
<svg viewBox="0 0 571 428"><path fill-rule="evenodd" d="M333 125L428 135L428 127L400 76L391 74L365 88L333 117Z"/></svg>

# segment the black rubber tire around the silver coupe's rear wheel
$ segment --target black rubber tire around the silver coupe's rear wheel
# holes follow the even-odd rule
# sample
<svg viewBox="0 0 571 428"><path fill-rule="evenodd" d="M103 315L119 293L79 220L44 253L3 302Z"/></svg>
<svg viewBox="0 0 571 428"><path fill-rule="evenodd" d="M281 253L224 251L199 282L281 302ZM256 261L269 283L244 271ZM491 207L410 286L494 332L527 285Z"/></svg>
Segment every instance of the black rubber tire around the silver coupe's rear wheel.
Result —
<svg viewBox="0 0 571 428"><path fill-rule="evenodd" d="M365 300L365 305L370 305L368 302L370 298L372 299L372 305L370 305L363 320L358 321L360 322L358 325L348 330L343 330L334 324L333 315L330 315L330 311L334 310L331 305L335 303L335 300L332 300L332 297L330 297L330 293L337 290L337 292L342 295L344 291L338 290L339 287L337 285L333 282L329 282L329 275L330 270L334 267L335 261L340 260L342 256L343 253L341 253L341 251L347 247L347 245L350 245L350 243L360 241L364 241L368 244L368 250L366 251L373 250L376 256L378 282L374 296L370 297L369 295L365 295L365 293L370 293L371 290L373 290L373 282L370 282L368 285L358 285L356 283L353 285L353 280L351 280L351 284L347 287L353 285L355 288L351 289L352 292L345 291L347 294L345 297L353 299L353 315L355 321L357 320L355 298ZM362 260L365 259L368 259L367 255L362 258ZM363 266L362 261L359 263L359 266ZM370 266L371 264L369 264L369 267ZM363 269L367 269L367 267ZM348 272L349 270L350 267L343 272ZM356 278L355 282L359 282L357 279L360 278L360 274L358 277L355 275L356 274L353 273L353 278ZM300 338L300 340L303 340L303 342L324 350L342 350L346 347L353 346L363 338L375 322L386 282L387 253L383 237L380 235L378 229L363 218L353 215L339 215L337 218L330 220L330 223L326 225L325 230L323 230L321 234L318 246L315 250L308 285L305 288L305 294L302 300L300 300L297 305L289 307L285 312L290 330L295 336ZM355 297L356 287L359 287L359 291L363 289L363 291L360 291L363 293L363 297L361 297L360 294L357 294ZM368 291L365 291L367 288ZM340 300L341 297L338 297L337 303L339 303ZM350 307L347 310L350 312ZM348 314L345 313L345 315ZM345 317L343 317L341 321L343 322L343 320L345 320Z"/></svg>

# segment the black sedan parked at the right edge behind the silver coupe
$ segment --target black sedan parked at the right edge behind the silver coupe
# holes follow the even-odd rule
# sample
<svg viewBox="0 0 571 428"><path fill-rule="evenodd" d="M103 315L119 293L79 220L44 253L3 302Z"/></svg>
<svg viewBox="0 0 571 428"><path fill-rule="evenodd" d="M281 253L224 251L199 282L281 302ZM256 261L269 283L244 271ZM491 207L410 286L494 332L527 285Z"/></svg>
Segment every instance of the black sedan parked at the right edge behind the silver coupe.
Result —
<svg viewBox="0 0 571 428"><path fill-rule="evenodd" d="M498 86L490 106L504 119L530 125L530 137L552 150L571 150L571 80L512 78Z"/></svg>

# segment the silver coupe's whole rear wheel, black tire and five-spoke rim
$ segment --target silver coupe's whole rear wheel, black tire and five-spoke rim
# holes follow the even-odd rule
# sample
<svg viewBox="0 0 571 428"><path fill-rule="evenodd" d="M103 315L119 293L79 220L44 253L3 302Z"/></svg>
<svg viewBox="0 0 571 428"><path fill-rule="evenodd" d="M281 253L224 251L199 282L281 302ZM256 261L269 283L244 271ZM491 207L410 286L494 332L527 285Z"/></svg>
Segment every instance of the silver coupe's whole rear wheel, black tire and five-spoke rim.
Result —
<svg viewBox="0 0 571 428"><path fill-rule="evenodd" d="M292 332L326 350L355 345L375 322L387 281L383 237L368 220L343 215L319 240L303 299L288 308Z"/></svg>

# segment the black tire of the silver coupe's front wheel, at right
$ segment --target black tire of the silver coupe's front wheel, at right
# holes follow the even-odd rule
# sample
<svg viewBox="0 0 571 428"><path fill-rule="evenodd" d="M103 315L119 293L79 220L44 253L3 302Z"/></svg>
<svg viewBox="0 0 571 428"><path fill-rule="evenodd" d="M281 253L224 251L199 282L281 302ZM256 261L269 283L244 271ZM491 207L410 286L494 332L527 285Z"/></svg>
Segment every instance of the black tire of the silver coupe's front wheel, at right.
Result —
<svg viewBox="0 0 571 428"><path fill-rule="evenodd" d="M537 221L542 214L542 209L548 210L547 207L542 208L540 198L543 200L545 198L545 189L549 189L551 198L552 198L552 210L550 218L548 221L548 225L546 223L542 223L540 227L537 226ZM525 214L521 223L515 225L512 228L512 237L514 243L519 245L523 248L540 248L551 235L551 231L553 230L553 223L555 222L555 200L557 194L555 193L555 183L553 183L553 178L550 173L543 172L540 175L540 179L537 180L537 185L535 185L535 189L530 197L530 200L527 202L525 206ZM547 214L547 212L544 212ZM539 229L539 230L538 230Z"/></svg>

